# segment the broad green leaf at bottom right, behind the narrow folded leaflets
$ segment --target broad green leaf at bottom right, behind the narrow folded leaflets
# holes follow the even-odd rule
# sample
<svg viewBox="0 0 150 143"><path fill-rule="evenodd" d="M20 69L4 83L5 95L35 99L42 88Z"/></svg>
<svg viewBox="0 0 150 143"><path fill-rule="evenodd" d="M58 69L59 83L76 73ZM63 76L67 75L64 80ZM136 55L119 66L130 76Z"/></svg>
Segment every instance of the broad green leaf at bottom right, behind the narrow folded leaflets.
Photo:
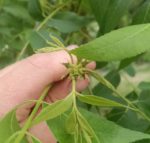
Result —
<svg viewBox="0 0 150 143"><path fill-rule="evenodd" d="M148 134L122 128L113 122L100 119L99 116L88 111L82 110L82 114L96 131L99 139L103 140L104 143L131 143L144 138L150 139Z"/></svg>

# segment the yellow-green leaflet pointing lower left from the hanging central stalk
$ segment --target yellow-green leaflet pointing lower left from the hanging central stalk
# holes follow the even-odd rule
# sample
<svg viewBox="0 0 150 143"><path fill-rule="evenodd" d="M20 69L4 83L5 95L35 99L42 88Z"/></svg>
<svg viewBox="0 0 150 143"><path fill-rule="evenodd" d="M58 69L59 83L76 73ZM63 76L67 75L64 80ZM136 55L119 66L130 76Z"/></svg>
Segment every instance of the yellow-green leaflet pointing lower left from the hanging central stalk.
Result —
<svg viewBox="0 0 150 143"><path fill-rule="evenodd" d="M70 94L63 100L56 101L45 107L39 115L33 120L32 125L42 121L53 119L60 114L66 112L72 105L72 95Z"/></svg>

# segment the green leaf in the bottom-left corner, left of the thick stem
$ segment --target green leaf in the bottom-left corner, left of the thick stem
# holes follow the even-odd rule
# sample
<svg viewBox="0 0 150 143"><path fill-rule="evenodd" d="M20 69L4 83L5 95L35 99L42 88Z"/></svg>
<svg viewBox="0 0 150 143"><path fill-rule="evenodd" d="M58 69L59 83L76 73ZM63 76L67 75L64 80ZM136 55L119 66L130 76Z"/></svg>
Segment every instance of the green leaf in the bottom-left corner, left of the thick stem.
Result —
<svg viewBox="0 0 150 143"><path fill-rule="evenodd" d="M13 110L0 120L0 143L5 143L19 130L20 126L16 119L16 111ZM27 143L27 140L23 139L22 143Z"/></svg>

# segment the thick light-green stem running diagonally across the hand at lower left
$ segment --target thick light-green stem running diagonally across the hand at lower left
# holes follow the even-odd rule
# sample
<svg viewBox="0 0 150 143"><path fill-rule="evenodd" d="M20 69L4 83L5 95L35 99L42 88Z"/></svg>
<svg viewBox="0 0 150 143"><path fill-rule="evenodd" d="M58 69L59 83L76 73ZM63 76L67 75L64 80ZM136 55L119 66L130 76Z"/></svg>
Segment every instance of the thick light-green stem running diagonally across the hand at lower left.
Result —
<svg viewBox="0 0 150 143"><path fill-rule="evenodd" d="M38 112L39 107L41 106L42 101L44 100L45 96L47 95L47 92L49 91L51 86L48 86L45 88L45 90L43 91L42 95L40 96L39 100L37 101L37 104L35 105L31 115L29 116L29 118L27 119L24 127L22 128L19 136L16 138L14 143L20 143L23 139L23 137L26 134L26 131L30 128L31 124L32 124L32 120L34 119L35 115Z"/></svg>

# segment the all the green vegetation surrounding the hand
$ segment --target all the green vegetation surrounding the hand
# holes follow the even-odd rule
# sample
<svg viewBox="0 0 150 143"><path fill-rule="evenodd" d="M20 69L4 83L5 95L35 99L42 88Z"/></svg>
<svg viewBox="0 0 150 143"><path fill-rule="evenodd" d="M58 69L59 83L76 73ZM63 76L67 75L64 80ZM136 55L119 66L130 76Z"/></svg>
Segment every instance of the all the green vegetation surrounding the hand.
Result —
<svg viewBox="0 0 150 143"><path fill-rule="evenodd" d="M0 120L0 143L27 143L26 136L41 143L28 129L42 121L59 143L149 143L150 78L137 77L142 65L142 75L150 70L149 21L150 0L1 0L1 68L62 49L78 63L65 65L72 81L65 99L43 102L49 85L22 128L15 109ZM68 51L71 44L79 48ZM95 71L86 68L90 61ZM93 80L79 93L85 74Z"/></svg>

